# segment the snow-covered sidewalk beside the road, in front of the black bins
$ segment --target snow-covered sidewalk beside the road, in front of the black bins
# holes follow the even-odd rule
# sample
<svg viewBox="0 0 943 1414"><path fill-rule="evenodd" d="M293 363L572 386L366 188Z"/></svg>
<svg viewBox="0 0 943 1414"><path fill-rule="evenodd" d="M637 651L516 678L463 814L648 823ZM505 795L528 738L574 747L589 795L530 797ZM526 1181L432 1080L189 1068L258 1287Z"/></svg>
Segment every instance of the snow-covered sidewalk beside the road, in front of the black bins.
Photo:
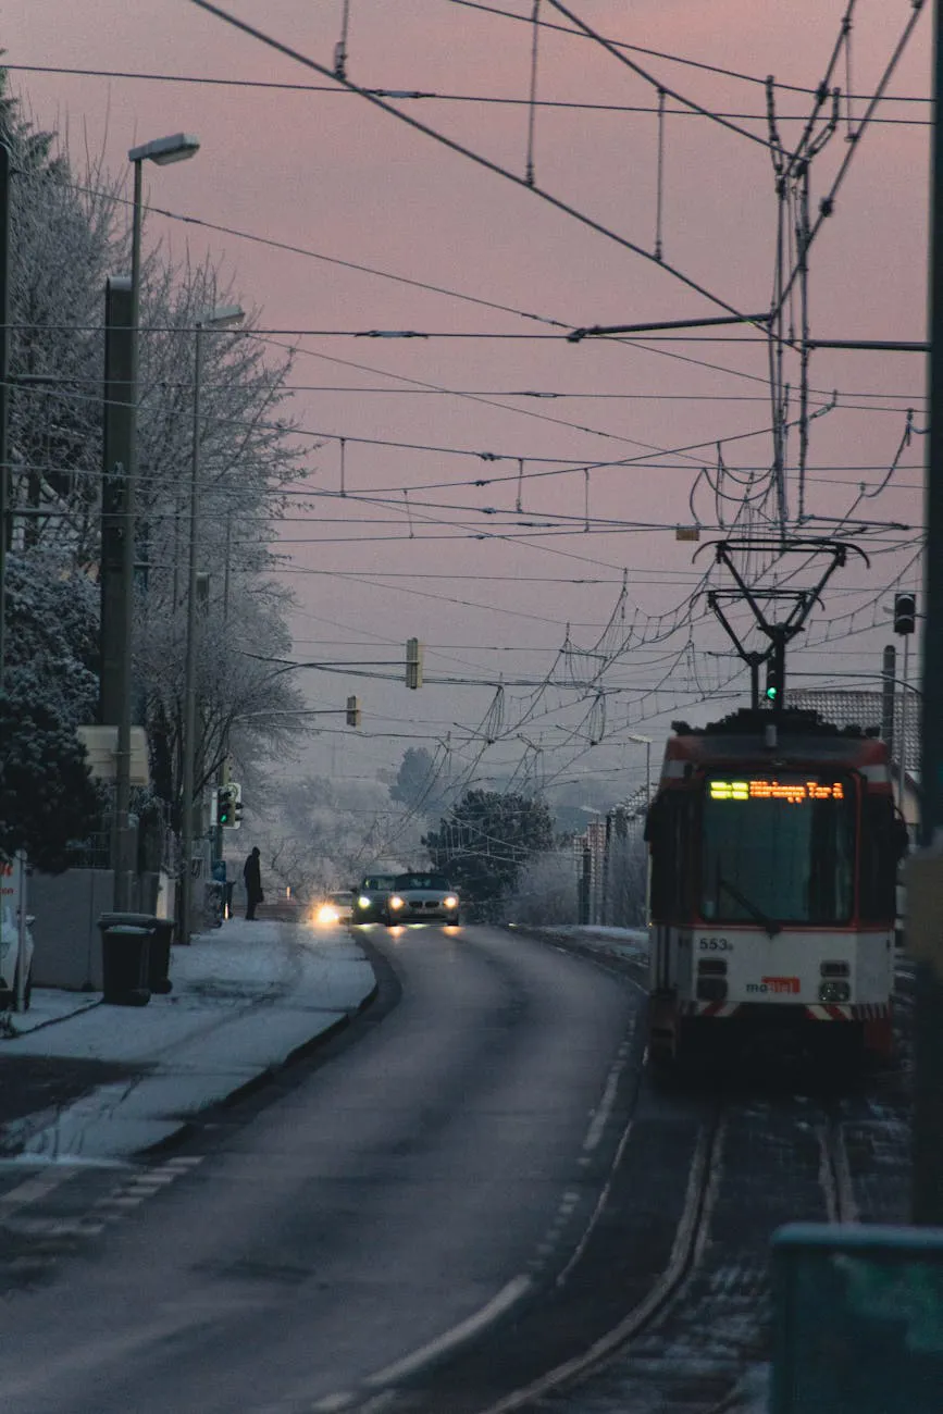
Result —
<svg viewBox="0 0 943 1414"><path fill-rule="evenodd" d="M375 994L342 928L230 919L172 947L172 991L146 1007L34 988L0 1036L0 1151L120 1161L346 1025Z"/></svg>

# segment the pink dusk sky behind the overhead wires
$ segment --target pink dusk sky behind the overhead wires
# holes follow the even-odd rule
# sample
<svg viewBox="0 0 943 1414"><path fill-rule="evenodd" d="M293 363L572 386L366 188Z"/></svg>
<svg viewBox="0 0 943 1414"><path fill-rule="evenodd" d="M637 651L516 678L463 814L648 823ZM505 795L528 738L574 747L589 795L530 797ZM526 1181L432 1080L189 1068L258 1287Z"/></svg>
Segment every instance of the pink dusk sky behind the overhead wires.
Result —
<svg viewBox="0 0 943 1414"><path fill-rule="evenodd" d="M496 0L498 3L498 0ZM262 8L230 0L223 8L298 48L328 66L339 35L342 3L270 0ZM503 8L529 16L530 0L506 0ZM573 0L588 24L614 38L646 48L720 65L763 79L814 88L831 52L845 0L648 0L631 7ZM853 49L853 82L869 92L910 14L909 0L861 0ZM249 37L230 30L187 0L156 7L144 0L31 0L4 17L1 33L10 65L49 65L129 71L195 78L239 78L287 83L329 83ZM262 17L260 17L262 13ZM544 20L557 21L550 4ZM895 76L892 92L926 98L929 92L929 13ZM563 23L563 21L560 21ZM529 25L464 8L448 0L352 0L348 74L363 86L420 89L435 93L522 98L527 93L532 31ZM662 82L713 110L762 113L762 86L636 55ZM844 64L838 82L844 83ZM105 150L115 171L127 148L178 130L199 136L192 163L148 173L153 201L180 215L303 246L328 256L369 264L413 280L430 281L479 298L561 320L568 324L677 320L720 312L686 290L664 270L554 212L534 194L472 165L465 158L407 130L363 99L336 92L288 93L252 88L85 78L14 71L18 89L41 126L65 130L74 153L88 141ZM652 89L597 45L544 31L540 41L539 96L543 99L652 106ZM795 133L789 113L804 113L807 99L780 95L783 133ZM861 103L857 105L858 112ZM426 99L400 107L491 160L522 174L526 158L527 110L471 102ZM886 117L926 120L926 105L888 105ZM744 127L763 136L763 126ZM844 132L814 167L816 198L845 157ZM655 239L656 122L646 113L590 113L578 109L540 110L536 123L536 180L560 199L591 215L629 240L650 249ZM841 189L836 215L812 255L813 334L821 338L925 337L927 129L881 126L865 134ZM666 260L741 310L763 310L772 281L773 180L769 156L759 144L724 132L700 117L670 116L666 123L664 219ZM338 266L279 253L235 236L202 233L154 218L148 239L168 242L181 253L189 242L197 253L209 246L235 273L243 303L260 310L264 328L293 329L426 329L452 332L549 332L541 325L499 311L459 303L411 286L344 270ZM645 448L710 444L769 424L762 382L718 372L664 352L625 345L582 342L499 342L493 339L379 341L305 337L294 385L389 387L389 393L298 392L294 411L303 427L349 438L346 484L351 491L392 492L434 482L469 482L512 475L516 462L485 462L447 454L366 447L368 437L476 448L534 458L609 460L639 455ZM653 345L655 346L655 345ZM762 379L765 354L758 345L730 342L660 344L683 354ZM370 369L358 372L331 362L346 359ZM505 399L502 411L451 396L407 395L399 379L438 387L612 395L601 397ZM860 481L879 478L903 430L903 410L915 407L922 426L923 361L915 355L827 354L813 358L813 385L843 390L837 410L813 424L810 509L838 515ZM393 392L400 389L400 392ZM851 395L895 395L869 397ZM626 395L632 395L626 397ZM745 400L745 399L755 400ZM694 399L715 399L694 400ZM741 399L741 400L732 400ZM862 410L878 404L879 410ZM540 416L523 416L523 414ZM541 417L563 419L581 428ZM605 434L605 436L602 436ZM790 447L795 455L795 443ZM916 468L922 440L905 457ZM307 523L286 525L291 553L291 585L298 595L294 619L298 658L376 658L402 653L407 636L427 649L427 674L496 679L499 674L540 677L560 646L564 625L575 642L590 646L618 595L628 570L632 615L673 609L693 580L691 546L676 543L670 529L690 519L689 492L701 454L667 458L670 468L611 468L591 475L590 515L595 519L659 523L663 530L574 534L567 539L482 542L471 536L407 539L402 513L396 525L366 520L373 510L348 499L315 503ZM771 460L768 436L731 443L731 467L762 468ZM680 465L679 465L680 462ZM851 468L851 469L845 469ZM339 452L327 441L311 457L312 484L336 489ZM841 482L844 485L836 485ZM868 503L877 519L916 525L920 515L919 469L902 471L881 501ZM513 508L513 482L450 491L417 491L416 502L447 509L423 513L454 527L474 523L482 532L495 519L488 506ZM451 506L452 509L448 509ZM459 509L461 508L461 509ZM468 508L474 508L468 510ZM525 484L523 508L540 513L582 516L581 474ZM345 519L336 518L344 510ZM698 502L704 522L713 518ZM383 516L392 512L380 512ZM417 512L418 515L418 512ZM418 520L416 522L418 525ZM375 533L397 540L375 539ZM441 527L440 527L441 533ZM304 539L318 543L294 543ZM290 543L293 542L293 543ZM560 551L566 551L566 556ZM827 614L871 605L912 556L875 557L869 574L845 571L836 581ZM571 559L578 556L580 559ZM700 563L700 561L698 561ZM370 584L310 570L363 571ZM404 578L383 578L399 574ZM417 578L418 574L457 578ZM510 578L517 577L517 583ZM595 578L611 583L532 583L523 577ZM910 573L909 587L919 575ZM855 600L847 591L860 588ZM411 592L407 592L411 591ZM888 597L881 602L885 602ZM457 602L458 601L458 602ZM867 609L861 624L874 618ZM597 625L594 629L592 625ZM812 636L812 635L810 635ZM814 672L877 667L886 629L857 633L828 648L796 658L795 666ZM701 624L693 635L698 673L710 682L728 665L700 656L724 646L715 628ZM438 645L438 646L433 646ZM639 648L608 684L648 686L670 665L683 645ZM662 666L659 666L662 665ZM810 680L812 682L812 680ZM411 732L433 747L454 724L474 725L491 697L485 687L435 687L407 693L400 683L363 682L351 676L310 674L317 706L342 703L348 691L363 700L365 730L356 738L329 734L310 752L312 766L370 773L394 761ZM625 786L638 782L643 762L638 748L625 748L626 731L660 740L676 715L705 720L714 707L694 707L690 665L676 666L663 696L642 704L632 696L608 700L607 741L582 756L591 769L622 771ZM523 700L526 694L510 693ZM554 699L556 701L556 699ZM547 704L549 706L549 704ZM659 715L652 715L653 713ZM566 766L574 748L561 749L578 713L563 713L529 724L527 735L544 747L550 769ZM509 706L508 720L513 720ZM481 773L515 761L520 742L495 747ZM467 758L468 759L468 755ZM573 773L567 768L567 773Z"/></svg>

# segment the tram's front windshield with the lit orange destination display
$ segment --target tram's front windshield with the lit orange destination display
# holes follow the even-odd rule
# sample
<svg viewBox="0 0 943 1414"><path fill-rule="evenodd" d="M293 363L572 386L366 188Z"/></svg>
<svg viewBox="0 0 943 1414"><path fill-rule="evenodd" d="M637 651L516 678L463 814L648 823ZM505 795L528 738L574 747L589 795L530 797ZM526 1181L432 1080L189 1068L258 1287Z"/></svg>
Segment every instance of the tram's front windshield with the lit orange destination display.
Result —
<svg viewBox="0 0 943 1414"><path fill-rule="evenodd" d="M762 926L851 919L854 778L711 773L701 841L701 918Z"/></svg>

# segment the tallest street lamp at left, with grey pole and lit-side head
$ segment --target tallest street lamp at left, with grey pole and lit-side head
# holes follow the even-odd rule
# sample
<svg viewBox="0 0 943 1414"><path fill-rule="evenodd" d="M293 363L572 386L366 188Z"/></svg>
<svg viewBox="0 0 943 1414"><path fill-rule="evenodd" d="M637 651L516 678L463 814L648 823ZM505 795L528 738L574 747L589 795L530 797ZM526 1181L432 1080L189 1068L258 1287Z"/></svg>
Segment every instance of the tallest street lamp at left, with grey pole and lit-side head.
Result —
<svg viewBox="0 0 943 1414"><path fill-rule="evenodd" d="M134 197L131 205L131 349L129 379L129 447L124 468L124 540L122 546L122 683L117 721L117 752L115 756L115 908L124 911L131 904L131 837L129 812L131 803L131 656L134 646L134 496L137 482L137 402L139 402L139 335L141 297L141 168L144 163L185 161L199 150L199 140L189 133L156 137L127 154L134 168Z"/></svg>

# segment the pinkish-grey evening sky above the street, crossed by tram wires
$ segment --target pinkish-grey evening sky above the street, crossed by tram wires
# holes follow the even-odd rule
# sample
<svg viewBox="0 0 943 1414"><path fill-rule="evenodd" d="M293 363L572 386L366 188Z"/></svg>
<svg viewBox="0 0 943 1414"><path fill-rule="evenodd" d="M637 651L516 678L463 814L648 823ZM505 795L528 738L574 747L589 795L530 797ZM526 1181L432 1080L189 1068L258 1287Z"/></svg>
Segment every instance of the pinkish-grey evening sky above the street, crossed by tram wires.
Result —
<svg viewBox="0 0 943 1414"><path fill-rule="evenodd" d="M219 6L334 69L344 0ZM448 738L454 778L488 785L526 758L519 779L590 771L628 792L645 773L631 734L660 749L672 718L703 723L744 701L745 673L735 676L704 600L687 612L710 551L693 564L697 546L676 540L676 526L697 520L701 544L718 539L720 516L730 526L737 513L735 488L769 472L766 341L749 325L633 342L566 334L769 310L765 81L776 81L787 147L848 0L566 8L635 47L618 52L655 85L595 40L561 33L573 20L543 0L532 110L533 0L349 0L348 79L426 95L386 102L517 182L189 0L31 0L4 16L11 88L37 126L68 136L76 165L88 147L120 173L136 143L199 137L194 161L147 170L148 199L178 219L151 214L146 240L175 256L209 250L259 329L297 346L291 411L310 475L281 546L295 658L392 674L301 674L312 707L342 707L348 693L363 704L356 735L342 717L325 718L310 769L369 776L410 742L441 752ZM926 338L929 7L888 99L850 141L912 16L910 0L858 0L836 66L833 85L850 81L854 96L843 96L838 130L813 161L813 219L851 160L810 250L813 338ZM659 83L679 95L664 100L660 223ZM529 158L534 191L520 182ZM660 238L662 264L612 236L649 255ZM795 354L785 378L795 420ZM795 427L786 444L789 513L795 522L804 508L803 534L836 532L860 488L885 481L908 409L915 431L886 488L836 532L868 550L871 568L851 564L831 581L790 659L797 686L878 672L894 590L920 585L925 378L919 354L812 356L810 410L821 416L810 423L804 499ZM732 499L718 501L701 474L715 479L718 462ZM342 472L346 496L320 495L339 492ZM752 530L763 529L754 518ZM585 652L561 665L567 625ZM397 666L410 636L427 645L418 693ZM592 680L598 655L616 645L591 693L567 686ZM503 711L484 725L502 679ZM495 744L482 749L485 737Z"/></svg>

